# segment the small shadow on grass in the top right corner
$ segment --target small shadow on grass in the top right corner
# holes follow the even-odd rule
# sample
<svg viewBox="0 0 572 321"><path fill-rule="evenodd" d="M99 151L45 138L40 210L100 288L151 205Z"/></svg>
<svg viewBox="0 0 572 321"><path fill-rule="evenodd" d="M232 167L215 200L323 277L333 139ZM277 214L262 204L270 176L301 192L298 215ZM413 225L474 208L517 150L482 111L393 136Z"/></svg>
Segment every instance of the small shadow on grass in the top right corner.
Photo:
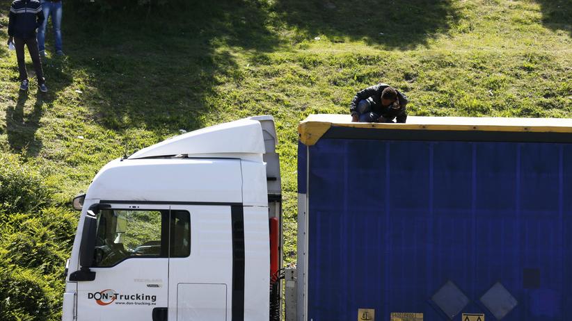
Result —
<svg viewBox="0 0 572 321"><path fill-rule="evenodd" d="M553 30L563 30L572 37L572 1L535 0L541 6L542 23Z"/></svg>

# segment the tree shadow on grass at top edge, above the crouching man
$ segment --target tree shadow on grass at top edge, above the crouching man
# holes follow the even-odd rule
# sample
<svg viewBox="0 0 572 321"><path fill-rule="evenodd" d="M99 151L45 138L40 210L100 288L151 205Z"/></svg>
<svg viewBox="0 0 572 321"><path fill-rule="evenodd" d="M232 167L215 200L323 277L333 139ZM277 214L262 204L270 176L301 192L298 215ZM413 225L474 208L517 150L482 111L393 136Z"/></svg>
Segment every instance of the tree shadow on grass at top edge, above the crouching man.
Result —
<svg viewBox="0 0 572 321"><path fill-rule="evenodd" d="M277 0L276 9L306 38L364 40L409 49L445 33L459 18L452 0Z"/></svg>

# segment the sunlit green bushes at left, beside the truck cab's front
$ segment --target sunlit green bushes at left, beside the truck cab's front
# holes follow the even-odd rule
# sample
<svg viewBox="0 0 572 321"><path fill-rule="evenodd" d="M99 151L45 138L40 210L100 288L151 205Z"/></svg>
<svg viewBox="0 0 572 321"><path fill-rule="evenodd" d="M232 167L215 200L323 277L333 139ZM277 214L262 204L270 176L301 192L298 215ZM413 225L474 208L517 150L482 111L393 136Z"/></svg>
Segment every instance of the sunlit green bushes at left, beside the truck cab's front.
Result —
<svg viewBox="0 0 572 321"><path fill-rule="evenodd" d="M58 320L77 215L47 207L38 170L0 154L0 320Z"/></svg>

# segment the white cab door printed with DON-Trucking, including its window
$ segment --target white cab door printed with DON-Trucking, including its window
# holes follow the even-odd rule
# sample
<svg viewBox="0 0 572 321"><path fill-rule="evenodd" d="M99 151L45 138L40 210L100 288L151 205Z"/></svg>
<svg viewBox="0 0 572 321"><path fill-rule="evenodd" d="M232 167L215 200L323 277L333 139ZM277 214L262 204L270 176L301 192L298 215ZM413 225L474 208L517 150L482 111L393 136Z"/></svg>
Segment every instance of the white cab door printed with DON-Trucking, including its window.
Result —
<svg viewBox="0 0 572 321"><path fill-rule="evenodd" d="M77 320L166 321L169 229L165 205L111 204L97 213L95 280L77 282Z"/></svg>

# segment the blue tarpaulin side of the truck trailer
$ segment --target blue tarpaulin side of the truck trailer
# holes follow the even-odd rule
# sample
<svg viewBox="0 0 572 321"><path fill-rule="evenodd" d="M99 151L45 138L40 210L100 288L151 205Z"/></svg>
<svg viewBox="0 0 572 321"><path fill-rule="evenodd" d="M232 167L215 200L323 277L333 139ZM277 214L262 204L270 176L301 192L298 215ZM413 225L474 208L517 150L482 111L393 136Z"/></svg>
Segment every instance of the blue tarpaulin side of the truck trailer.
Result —
<svg viewBox="0 0 572 321"><path fill-rule="evenodd" d="M308 157L308 320L449 320L447 282L468 299L454 320L496 320L498 282L502 320L572 320L572 145L322 139Z"/></svg>

